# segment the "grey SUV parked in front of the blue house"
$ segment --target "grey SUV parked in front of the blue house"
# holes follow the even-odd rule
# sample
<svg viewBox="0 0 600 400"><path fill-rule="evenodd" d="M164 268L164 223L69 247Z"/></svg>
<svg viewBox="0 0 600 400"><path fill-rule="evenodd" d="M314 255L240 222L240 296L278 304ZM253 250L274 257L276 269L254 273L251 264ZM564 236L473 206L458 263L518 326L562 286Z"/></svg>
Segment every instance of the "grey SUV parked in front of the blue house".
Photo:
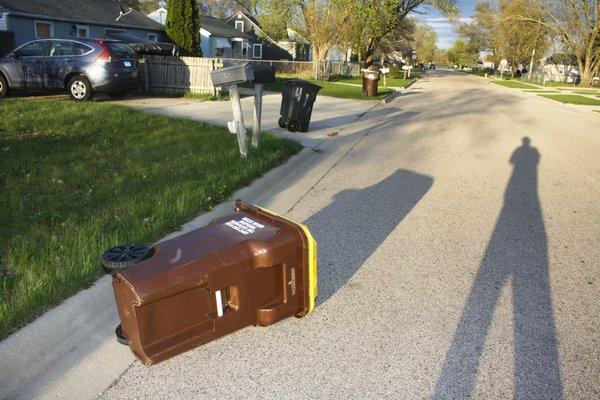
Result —
<svg viewBox="0 0 600 400"><path fill-rule="evenodd" d="M141 83L138 56L116 40L40 39L0 58L0 98L9 90L66 90L75 101L95 93L123 98Z"/></svg>

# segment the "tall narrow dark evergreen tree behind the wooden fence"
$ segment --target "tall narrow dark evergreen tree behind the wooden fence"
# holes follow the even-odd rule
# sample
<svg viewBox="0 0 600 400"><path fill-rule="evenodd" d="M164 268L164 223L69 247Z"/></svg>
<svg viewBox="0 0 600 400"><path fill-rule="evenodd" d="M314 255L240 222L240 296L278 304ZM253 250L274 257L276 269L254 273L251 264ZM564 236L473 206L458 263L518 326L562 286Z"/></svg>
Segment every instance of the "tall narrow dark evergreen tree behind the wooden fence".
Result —
<svg viewBox="0 0 600 400"><path fill-rule="evenodd" d="M182 55L201 56L200 18L196 0L169 0L166 33Z"/></svg>

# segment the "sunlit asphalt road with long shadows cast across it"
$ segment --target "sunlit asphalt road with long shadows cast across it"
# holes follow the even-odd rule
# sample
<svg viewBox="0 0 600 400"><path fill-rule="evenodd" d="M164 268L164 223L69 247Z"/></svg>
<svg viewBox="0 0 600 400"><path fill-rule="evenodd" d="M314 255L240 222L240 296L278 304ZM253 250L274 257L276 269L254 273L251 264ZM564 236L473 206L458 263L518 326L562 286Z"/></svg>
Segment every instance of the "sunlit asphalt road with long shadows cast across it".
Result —
<svg viewBox="0 0 600 400"><path fill-rule="evenodd" d="M600 114L443 71L390 107L278 210L319 243L314 313L102 398L600 397Z"/></svg>

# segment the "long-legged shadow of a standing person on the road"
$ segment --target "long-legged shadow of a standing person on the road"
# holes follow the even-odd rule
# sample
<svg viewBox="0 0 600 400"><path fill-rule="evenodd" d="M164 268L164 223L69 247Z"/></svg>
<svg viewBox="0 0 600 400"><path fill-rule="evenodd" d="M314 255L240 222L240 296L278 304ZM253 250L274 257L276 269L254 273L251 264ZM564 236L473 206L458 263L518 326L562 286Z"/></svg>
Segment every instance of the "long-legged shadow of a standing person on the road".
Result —
<svg viewBox="0 0 600 400"><path fill-rule="evenodd" d="M512 284L517 399L558 399L562 383L548 245L537 193L539 152L529 138L510 158L504 205L446 355L434 399L468 398L503 286Z"/></svg>

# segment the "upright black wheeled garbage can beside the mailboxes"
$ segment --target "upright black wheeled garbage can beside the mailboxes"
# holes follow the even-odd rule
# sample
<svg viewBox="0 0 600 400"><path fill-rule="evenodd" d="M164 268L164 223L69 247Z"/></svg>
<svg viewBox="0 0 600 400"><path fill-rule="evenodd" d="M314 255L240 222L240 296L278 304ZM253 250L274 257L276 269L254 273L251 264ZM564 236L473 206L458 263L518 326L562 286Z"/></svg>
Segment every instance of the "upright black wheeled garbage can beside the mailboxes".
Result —
<svg viewBox="0 0 600 400"><path fill-rule="evenodd" d="M285 81L281 92L279 126L290 132L308 132L312 107L319 90L320 86L301 79Z"/></svg>

